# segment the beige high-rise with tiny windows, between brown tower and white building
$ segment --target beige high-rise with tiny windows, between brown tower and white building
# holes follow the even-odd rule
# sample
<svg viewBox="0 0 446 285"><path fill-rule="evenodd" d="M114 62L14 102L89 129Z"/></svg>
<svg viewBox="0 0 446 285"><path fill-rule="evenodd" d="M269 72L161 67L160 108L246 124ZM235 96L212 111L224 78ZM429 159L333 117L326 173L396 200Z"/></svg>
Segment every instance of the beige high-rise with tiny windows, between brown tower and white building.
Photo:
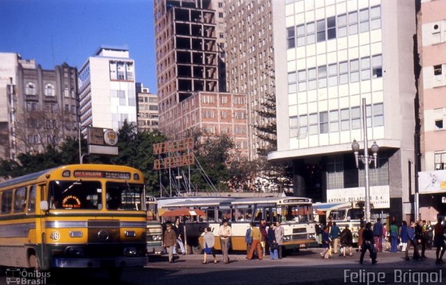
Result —
<svg viewBox="0 0 446 285"><path fill-rule="evenodd" d="M259 139L256 125L275 118L259 116L261 105L275 93L275 66L272 35L272 0L226 1L226 88L247 95L249 159L267 142Z"/></svg>

